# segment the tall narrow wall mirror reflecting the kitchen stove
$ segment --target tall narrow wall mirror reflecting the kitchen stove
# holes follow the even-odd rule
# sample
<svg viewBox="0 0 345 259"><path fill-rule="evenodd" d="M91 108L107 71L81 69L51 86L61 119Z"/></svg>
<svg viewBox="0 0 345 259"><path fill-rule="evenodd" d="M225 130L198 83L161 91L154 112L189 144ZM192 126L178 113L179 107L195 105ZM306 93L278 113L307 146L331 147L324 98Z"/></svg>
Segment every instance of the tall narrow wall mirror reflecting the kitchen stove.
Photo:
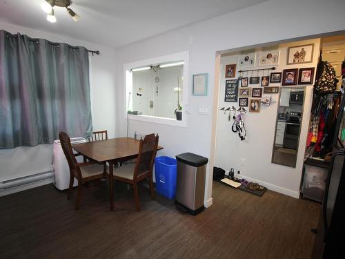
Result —
<svg viewBox="0 0 345 259"><path fill-rule="evenodd" d="M280 88L272 152L275 164L296 167L304 97L304 87Z"/></svg>

